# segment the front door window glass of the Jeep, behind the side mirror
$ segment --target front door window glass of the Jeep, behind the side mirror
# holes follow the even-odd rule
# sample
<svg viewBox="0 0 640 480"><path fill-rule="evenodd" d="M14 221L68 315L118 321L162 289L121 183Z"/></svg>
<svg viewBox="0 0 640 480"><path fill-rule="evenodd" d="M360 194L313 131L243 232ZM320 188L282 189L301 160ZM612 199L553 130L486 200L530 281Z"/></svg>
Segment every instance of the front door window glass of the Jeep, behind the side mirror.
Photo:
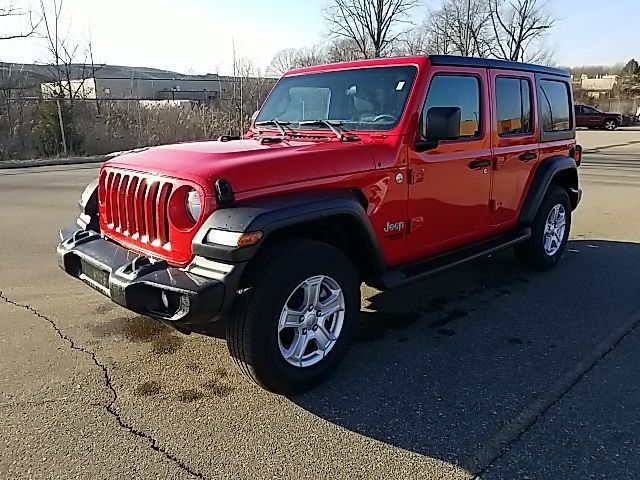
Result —
<svg viewBox="0 0 640 480"><path fill-rule="evenodd" d="M480 82L471 75L435 75L422 117L432 107L460 108L460 138L480 136Z"/></svg>

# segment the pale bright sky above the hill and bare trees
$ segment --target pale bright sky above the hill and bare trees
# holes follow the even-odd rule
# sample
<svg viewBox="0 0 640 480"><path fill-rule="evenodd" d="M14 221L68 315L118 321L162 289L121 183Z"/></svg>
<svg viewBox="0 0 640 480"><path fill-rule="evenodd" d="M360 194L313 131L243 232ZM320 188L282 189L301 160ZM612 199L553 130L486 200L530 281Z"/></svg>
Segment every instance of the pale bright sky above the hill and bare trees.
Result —
<svg viewBox="0 0 640 480"><path fill-rule="evenodd" d="M238 56L261 68L282 48L325 40L322 9L327 0L63 1L72 36L86 39L90 27L96 63L224 74L231 69L232 40ZM13 0L16 5L30 2L36 0ZM438 3L425 0L425 5ZM557 64L640 58L640 0L550 0L549 8L560 18L548 38ZM413 12L415 23L425 9ZM0 33L12 26L0 22ZM1 41L0 61L43 62L44 48L40 39Z"/></svg>

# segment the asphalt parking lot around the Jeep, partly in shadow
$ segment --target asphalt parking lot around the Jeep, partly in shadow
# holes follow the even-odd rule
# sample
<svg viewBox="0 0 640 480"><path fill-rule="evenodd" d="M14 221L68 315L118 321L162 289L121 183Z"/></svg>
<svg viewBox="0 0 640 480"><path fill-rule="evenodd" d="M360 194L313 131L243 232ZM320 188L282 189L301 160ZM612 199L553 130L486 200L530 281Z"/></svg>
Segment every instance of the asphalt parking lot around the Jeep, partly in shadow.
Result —
<svg viewBox="0 0 640 480"><path fill-rule="evenodd" d="M0 170L0 478L637 478L640 130L578 135L558 268L363 288L339 371L291 398L59 271L98 166Z"/></svg>

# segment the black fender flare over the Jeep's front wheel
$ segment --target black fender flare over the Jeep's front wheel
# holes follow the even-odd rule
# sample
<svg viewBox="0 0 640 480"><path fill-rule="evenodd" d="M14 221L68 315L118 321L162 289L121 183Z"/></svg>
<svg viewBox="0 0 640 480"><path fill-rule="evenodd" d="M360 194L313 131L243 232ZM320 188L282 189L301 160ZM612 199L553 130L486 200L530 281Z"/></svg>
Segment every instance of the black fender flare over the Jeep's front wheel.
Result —
<svg viewBox="0 0 640 480"><path fill-rule="evenodd" d="M367 258L376 271L384 271L382 250L373 226L358 197L348 190L314 190L255 200L214 211L193 239L193 253L205 258L243 262L253 258L274 232L316 220L348 217L361 229ZM206 241L211 229L229 232L263 232L256 245L237 248Z"/></svg>

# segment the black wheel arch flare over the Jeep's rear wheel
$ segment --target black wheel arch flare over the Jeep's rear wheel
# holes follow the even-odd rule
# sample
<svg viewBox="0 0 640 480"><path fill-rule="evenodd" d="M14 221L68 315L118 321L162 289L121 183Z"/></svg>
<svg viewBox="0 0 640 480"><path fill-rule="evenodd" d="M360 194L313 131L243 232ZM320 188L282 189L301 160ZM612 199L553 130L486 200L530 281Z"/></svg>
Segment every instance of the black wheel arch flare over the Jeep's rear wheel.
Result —
<svg viewBox="0 0 640 480"><path fill-rule="evenodd" d="M573 158L556 156L540 164L520 211L518 221L521 225L531 224L550 185L564 188L569 195L571 209L576 209L580 202L580 189L578 167Z"/></svg>

